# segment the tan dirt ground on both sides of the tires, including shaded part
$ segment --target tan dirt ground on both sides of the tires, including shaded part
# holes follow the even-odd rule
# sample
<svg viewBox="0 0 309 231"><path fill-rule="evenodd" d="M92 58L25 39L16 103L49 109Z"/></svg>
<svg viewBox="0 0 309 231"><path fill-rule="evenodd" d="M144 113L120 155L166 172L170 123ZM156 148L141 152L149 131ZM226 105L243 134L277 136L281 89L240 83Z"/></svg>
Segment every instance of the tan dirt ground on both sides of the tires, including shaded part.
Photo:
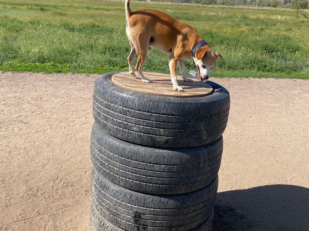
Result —
<svg viewBox="0 0 309 231"><path fill-rule="evenodd" d="M88 230L97 77L0 73L0 230ZM214 231L309 230L309 81L210 80L231 94Z"/></svg>

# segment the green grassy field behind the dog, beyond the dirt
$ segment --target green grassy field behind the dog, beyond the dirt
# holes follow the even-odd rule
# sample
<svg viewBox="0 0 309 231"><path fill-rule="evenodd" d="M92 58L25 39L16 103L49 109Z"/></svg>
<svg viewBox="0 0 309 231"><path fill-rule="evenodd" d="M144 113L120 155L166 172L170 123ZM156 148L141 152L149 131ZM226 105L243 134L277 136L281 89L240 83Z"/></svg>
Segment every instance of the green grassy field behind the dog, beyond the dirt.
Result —
<svg viewBox="0 0 309 231"><path fill-rule="evenodd" d="M211 76L309 79L309 25L293 11L130 6L192 25L223 57ZM0 0L0 70L105 73L128 69L129 52L124 2ZM167 55L153 49L143 69L169 71Z"/></svg>

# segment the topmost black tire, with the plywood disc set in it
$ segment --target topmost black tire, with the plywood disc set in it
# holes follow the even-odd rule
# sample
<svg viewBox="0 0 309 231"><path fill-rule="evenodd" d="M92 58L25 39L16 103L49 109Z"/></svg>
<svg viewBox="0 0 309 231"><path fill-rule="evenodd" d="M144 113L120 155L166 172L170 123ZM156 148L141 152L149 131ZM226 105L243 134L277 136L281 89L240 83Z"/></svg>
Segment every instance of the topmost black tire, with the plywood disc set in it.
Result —
<svg viewBox="0 0 309 231"><path fill-rule="evenodd" d="M148 146L194 147L224 132L230 108L224 87L207 81L214 92L205 97L155 96L115 86L111 78L119 72L99 76L94 86L93 116L108 134Z"/></svg>

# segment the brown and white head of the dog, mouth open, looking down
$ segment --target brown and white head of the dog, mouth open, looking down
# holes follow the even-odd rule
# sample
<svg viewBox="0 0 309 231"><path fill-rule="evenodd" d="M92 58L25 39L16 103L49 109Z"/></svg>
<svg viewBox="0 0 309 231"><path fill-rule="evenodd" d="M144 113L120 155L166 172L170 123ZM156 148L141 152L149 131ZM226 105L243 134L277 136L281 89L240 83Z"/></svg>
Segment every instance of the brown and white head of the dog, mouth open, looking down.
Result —
<svg viewBox="0 0 309 231"><path fill-rule="evenodd" d="M209 78L210 69L214 67L217 59L223 59L219 53L215 53L211 50L209 44L197 48L194 55L194 62L198 69L198 77L200 77L202 82Z"/></svg>

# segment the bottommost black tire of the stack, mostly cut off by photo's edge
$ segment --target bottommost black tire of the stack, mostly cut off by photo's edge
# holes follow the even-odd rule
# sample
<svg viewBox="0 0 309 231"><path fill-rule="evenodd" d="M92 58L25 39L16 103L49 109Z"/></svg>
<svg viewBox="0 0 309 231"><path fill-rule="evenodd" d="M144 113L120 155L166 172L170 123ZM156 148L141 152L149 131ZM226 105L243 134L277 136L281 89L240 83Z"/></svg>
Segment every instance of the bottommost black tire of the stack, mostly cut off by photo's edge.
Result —
<svg viewBox="0 0 309 231"><path fill-rule="evenodd" d="M210 214L206 217L206 220L199 226L190 231L211 231L214 219L214 209L212 208ZM94 203L90 204L90 231L127 231L121 229L116 225L113 225L109 221L105 220L98 210L95 208Z"/></svg>

